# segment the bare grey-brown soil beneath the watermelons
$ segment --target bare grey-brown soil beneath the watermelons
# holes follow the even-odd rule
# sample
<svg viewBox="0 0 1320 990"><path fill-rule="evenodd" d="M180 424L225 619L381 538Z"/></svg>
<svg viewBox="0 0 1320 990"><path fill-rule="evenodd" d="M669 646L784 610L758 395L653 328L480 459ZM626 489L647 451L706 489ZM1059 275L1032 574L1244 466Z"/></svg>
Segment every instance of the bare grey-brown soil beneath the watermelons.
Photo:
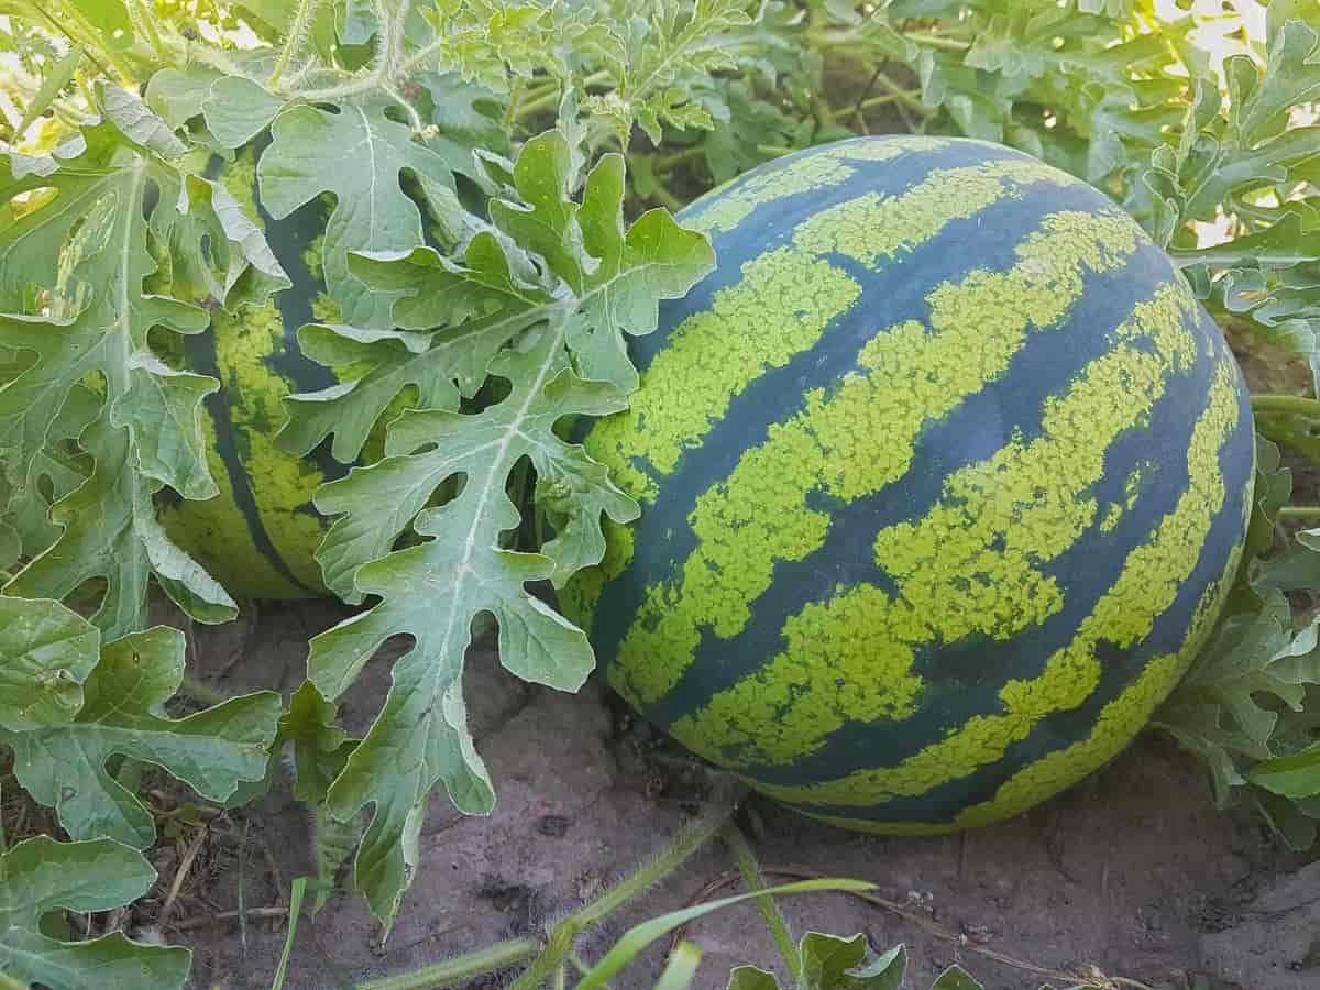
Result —
<svg viewBox="0 0 1320 990"><path fill-rule="evenodd" d="M288 694L304 676L308 638L345 614L330 602L263 605L248 624L198 630L194 669L226 690L276 686ZM381 651L343 700L351 730L363 731L380 706L397 653ZM498 788L494 814L465 818L437 795L420 874L389 940L379 944L362 900L343 890L314 920L304 916L286 986L346 987L543 931L701 810L708 788L700 768L628 718L595 680L578 696L528 688L478 645L465 688ZM247 906L280 903L289 879L310 873L304 810L282 785L235 821L248 851L242 861L214 859L222 866L206 895L232 909L242 874ZM1253 816L1216 810L1196 764L1154 735L1049 804L965 836L859 837L755 797L739 822L767 869L871 880L925 924L962 936L962 945L932 937L924 925L842 895L783 902L796 935L865 932L875 949L907 944L908 987L925 990L954 961L993 990L1048 982L982 949L1177 990L1320 987L1320 863L1287 854ZM161 855L168 878L176 854ZM626 927L688 903L731 865L713 843L585 937L582 956L594 958ZM195 950L197 986L265 987L284 929L249 923L246 948L227 920L172 937ZM704 920L688 937L705 950L702 987L725 986L739 962L776 964L752 908ZM649 987L660 965L663 953L652 950L615 986Z"/></svg>

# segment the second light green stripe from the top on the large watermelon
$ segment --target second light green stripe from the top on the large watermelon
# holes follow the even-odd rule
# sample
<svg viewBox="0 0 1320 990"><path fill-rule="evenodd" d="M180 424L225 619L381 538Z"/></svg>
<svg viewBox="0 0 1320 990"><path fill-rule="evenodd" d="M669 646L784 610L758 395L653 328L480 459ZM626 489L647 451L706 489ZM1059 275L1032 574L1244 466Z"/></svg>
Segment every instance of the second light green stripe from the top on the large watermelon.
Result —
<svg viewBox="0 0 1320 990"><path fill-rule="evenodd" d="M673 471L734 396L766 370L810 350L861 296L861 286L826 256L888 263L1030 185L1072 182L1039 161L1010 158L937 169L900 195L867 193L822 210L793 231L791 244L747 261L737 284L714 293L710 309L671 331L631 408L597 424L587 450L611 466L630 495L653 500L656 482L634 459L660 475Z"/></svg>

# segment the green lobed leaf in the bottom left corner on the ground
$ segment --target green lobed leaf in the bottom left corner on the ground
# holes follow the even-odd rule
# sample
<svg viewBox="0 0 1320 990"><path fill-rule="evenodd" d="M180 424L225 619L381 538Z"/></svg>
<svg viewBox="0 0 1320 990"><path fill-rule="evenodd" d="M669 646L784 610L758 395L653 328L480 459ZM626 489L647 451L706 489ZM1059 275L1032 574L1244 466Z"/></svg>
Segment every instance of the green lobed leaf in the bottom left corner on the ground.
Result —
<svg viewBox="0 0 1320 990"><path fill-rule="evenodd" d="M182 986L191 954L143 945L123 932L71 942L42 933L53 911L108 911L144 895L156 871L108 838L55 842L38 836L0 854L0 974L50 990Z"/></svg>

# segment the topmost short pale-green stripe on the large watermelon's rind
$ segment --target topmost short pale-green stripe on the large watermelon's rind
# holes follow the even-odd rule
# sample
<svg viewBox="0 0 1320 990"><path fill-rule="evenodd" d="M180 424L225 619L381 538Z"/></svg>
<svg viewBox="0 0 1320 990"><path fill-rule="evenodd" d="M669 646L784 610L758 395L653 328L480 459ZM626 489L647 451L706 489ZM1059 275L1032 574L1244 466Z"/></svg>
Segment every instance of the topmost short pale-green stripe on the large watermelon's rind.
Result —
<svg viewBox="0 0 1320 990"><path fill-rule="evenodd" d="M888 161L907 152L929 153L946 145L940 137L899 136L883 143L843 141L812 150L780 168L748 176L737 189L710 190L688 209L684 224L702 234L733 230L759 206L847 182L857 172L849 161Z"/></svg>

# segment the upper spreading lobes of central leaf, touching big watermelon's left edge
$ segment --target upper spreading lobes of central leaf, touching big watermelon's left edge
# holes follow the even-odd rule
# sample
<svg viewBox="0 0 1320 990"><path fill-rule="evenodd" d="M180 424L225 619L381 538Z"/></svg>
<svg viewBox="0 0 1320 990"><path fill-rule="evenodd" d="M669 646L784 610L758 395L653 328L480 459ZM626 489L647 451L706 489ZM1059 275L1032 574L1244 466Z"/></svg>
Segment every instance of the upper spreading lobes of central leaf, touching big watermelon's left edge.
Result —
<svg viewBox="0 0 1320 990"><path fill-rule="evenodd" d="M714 255L663 210L624 231L623 174L623 158L605 156L574 202L573 149L549 131L523 148L513 185L491 202L495 228L477 234L462 260L430 248L350 259L374 298L391 304L399 330L304 327L304 351L346 380L289 396L281 444L305 454L334 434L334 457L351 463L404 388L417 389L421 408L457 409L459 396L484 383L491 356L552 314L566 317L565 339L583 378L636 388L626 335L653 331L659 301L682 296ZM343 372L350 367L351 376ZM327 581L351 597L351 582L337 574Z"/></svg>

